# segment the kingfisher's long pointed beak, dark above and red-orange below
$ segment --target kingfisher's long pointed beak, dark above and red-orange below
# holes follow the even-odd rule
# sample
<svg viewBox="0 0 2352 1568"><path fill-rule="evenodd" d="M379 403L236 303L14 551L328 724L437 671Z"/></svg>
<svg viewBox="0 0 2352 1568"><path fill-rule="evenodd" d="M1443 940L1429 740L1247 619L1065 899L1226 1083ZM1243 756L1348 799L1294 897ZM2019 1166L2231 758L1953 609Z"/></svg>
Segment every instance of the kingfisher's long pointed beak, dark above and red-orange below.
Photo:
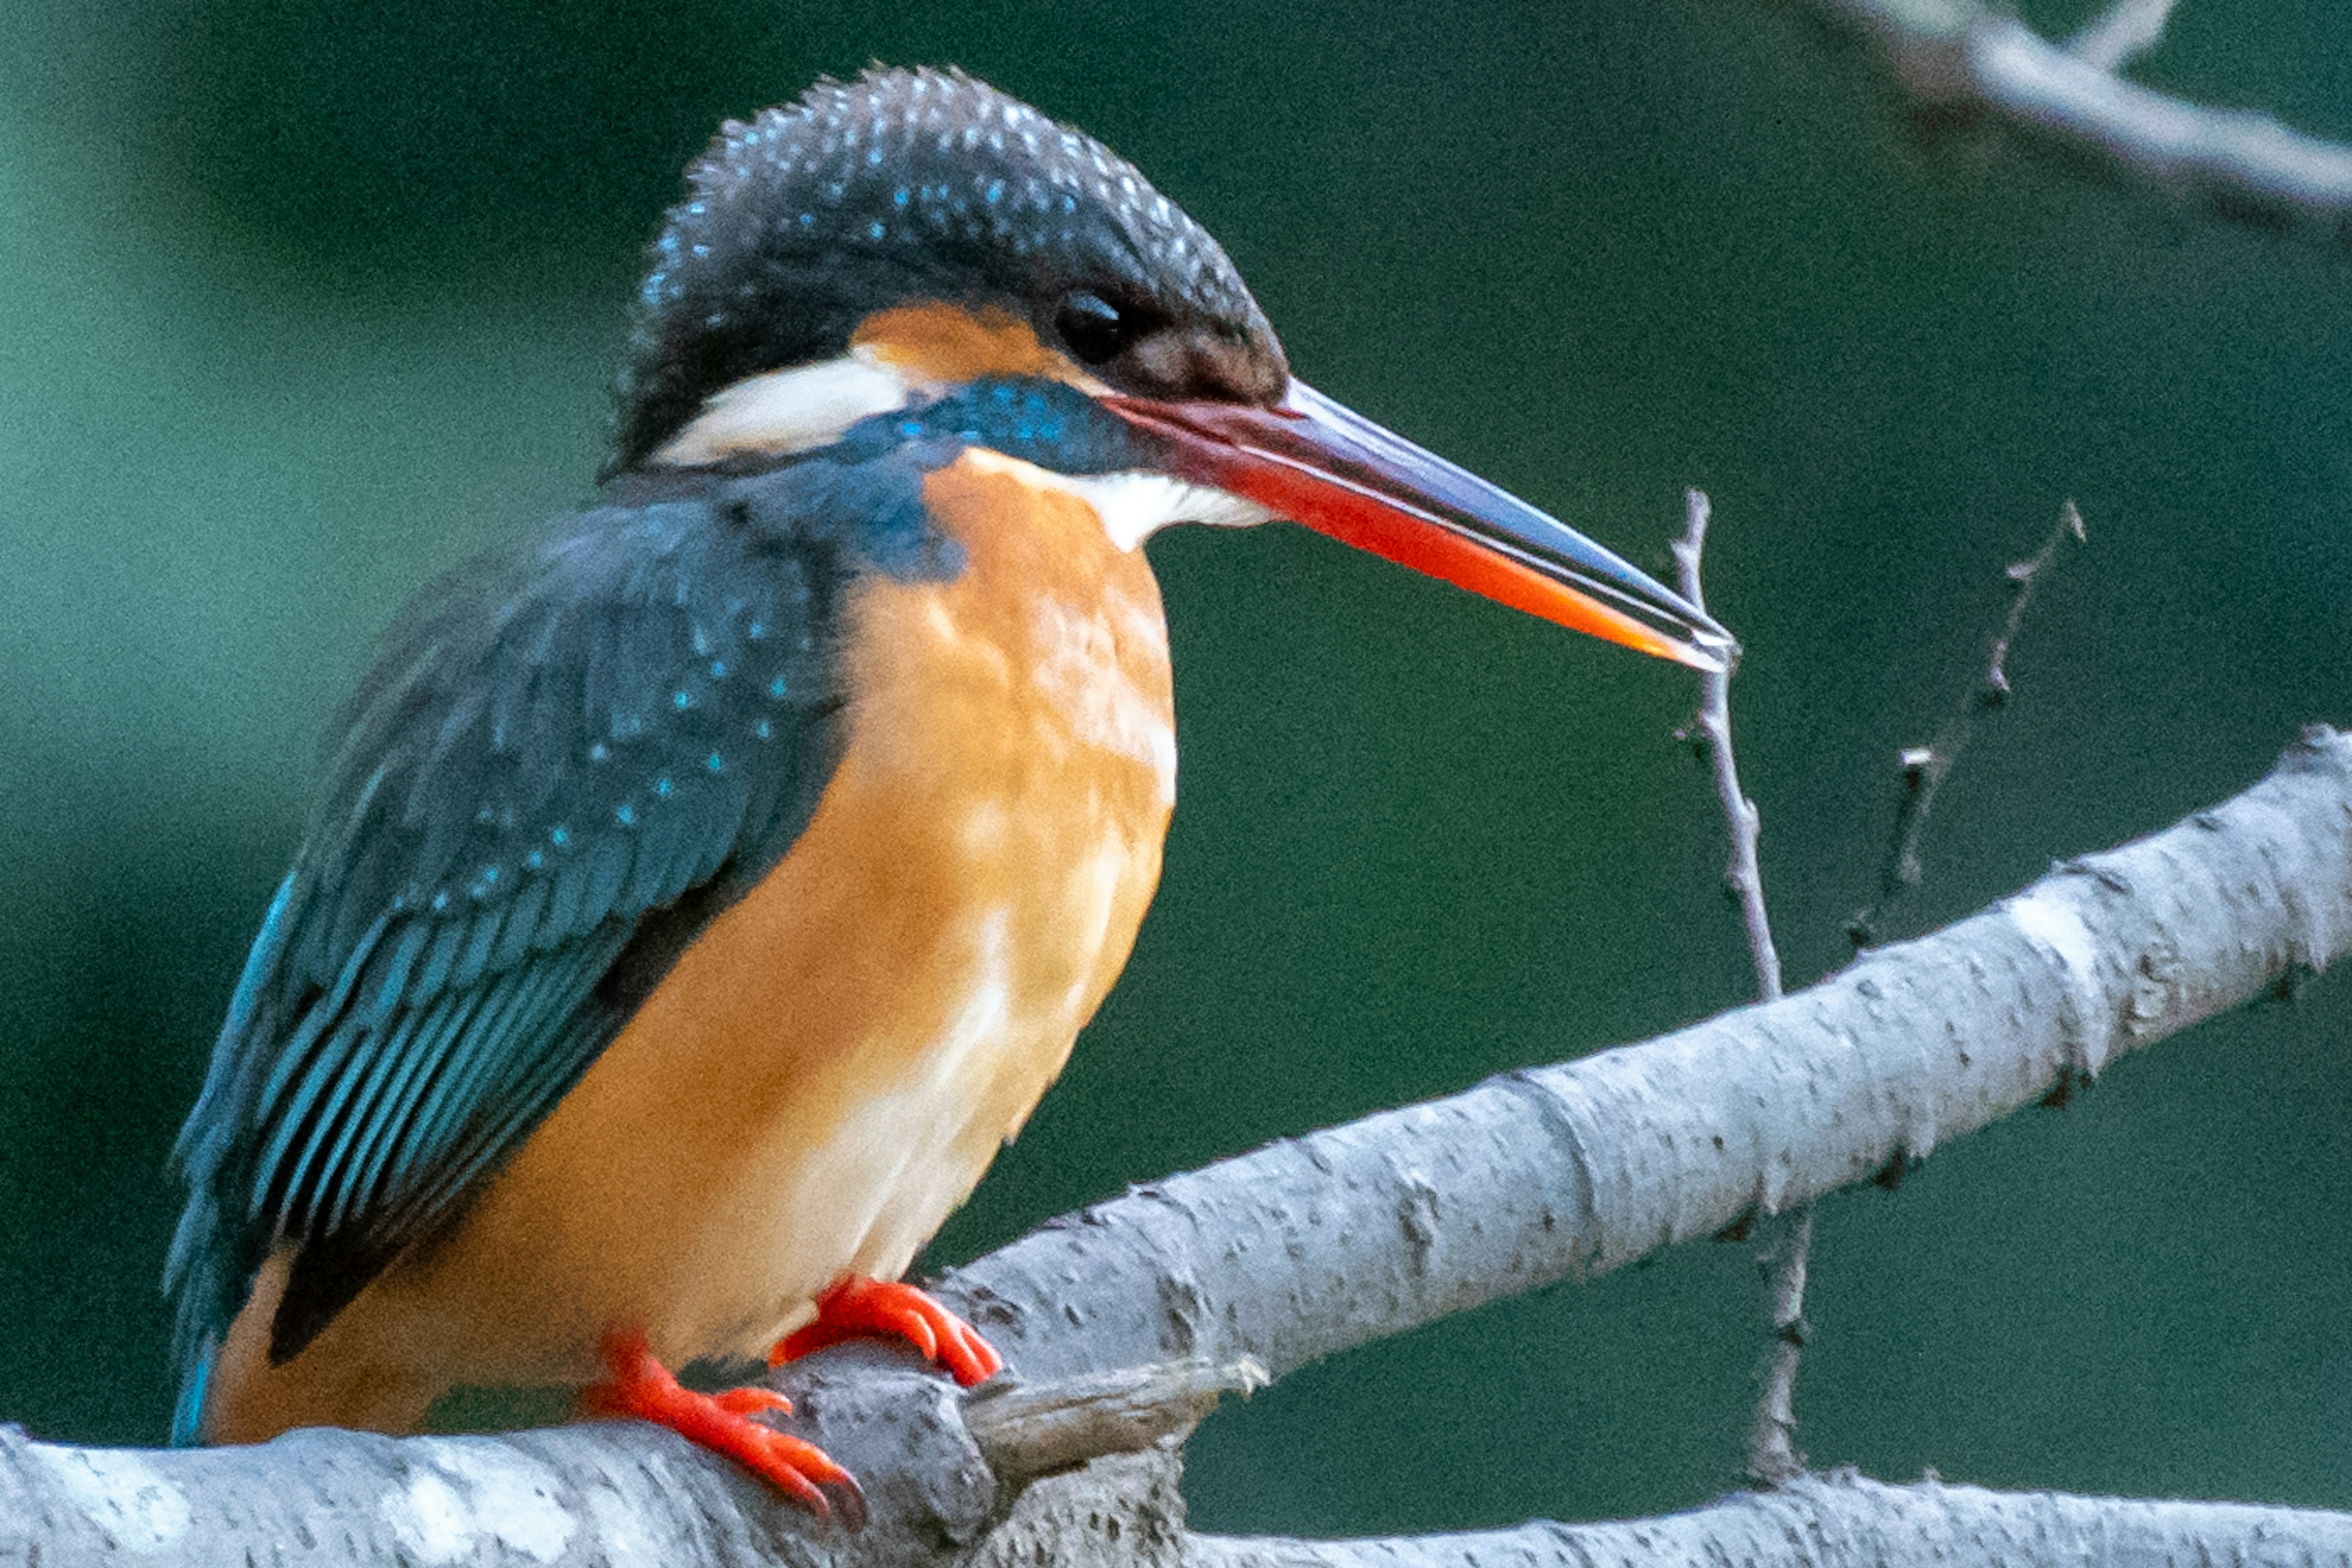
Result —
<svg viewBox="0 0 2352 1568"><path fill-rule="evenodd" d="M1174 447L1171 468L1357 550L1696 670L1738 658L1731 632L1564 522L1291 381L1275 407L1103 404Z"/></svg>

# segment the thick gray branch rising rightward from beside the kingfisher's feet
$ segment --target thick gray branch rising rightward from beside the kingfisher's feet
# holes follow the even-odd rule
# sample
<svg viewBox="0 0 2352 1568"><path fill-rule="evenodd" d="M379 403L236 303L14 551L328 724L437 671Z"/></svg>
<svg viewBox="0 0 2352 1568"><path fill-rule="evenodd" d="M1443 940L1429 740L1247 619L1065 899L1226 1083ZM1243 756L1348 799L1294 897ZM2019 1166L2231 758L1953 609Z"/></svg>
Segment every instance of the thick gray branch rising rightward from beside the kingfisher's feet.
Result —
<svg viewBox="0 0 2352 1568"><path fill-rule="evenodd" d="M2352 743L2314 729L2246 795L1795 997L1136 1187L941 1295L1030 1378L1279 1378L1926 1159L2347 943Z"/></svg>

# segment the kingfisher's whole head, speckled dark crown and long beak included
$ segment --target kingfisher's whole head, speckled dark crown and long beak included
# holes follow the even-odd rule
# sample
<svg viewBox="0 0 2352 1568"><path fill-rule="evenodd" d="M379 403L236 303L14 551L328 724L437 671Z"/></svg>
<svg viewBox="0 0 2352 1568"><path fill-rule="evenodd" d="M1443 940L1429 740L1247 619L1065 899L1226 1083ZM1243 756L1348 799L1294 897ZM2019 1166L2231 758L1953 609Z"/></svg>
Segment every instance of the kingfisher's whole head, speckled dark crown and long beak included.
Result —
<svg viewBox="0 0 2352 1568"><path fill-rule="evenodd" d="M1080 487L1127 548L1289 517L1644 654L1738 651L1602 545L1296 381L1218 242L1091 136L938 71L729 122L654 247L614 470L934 425Z"/></svg>

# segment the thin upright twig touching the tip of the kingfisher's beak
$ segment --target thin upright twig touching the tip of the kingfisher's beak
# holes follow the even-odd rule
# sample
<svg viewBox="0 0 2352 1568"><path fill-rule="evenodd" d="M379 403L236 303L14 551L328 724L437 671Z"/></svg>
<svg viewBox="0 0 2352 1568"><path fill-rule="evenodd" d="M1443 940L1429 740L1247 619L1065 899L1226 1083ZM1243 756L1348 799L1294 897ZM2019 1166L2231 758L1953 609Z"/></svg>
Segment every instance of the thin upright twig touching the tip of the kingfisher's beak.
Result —
<svg viewBox="0 0 2352 1568"><path fill-rule="evenodd" d="M1684 491L1684 534L1675 543L1675 571L1682 597L1705 609L1698 581L1698 557L1708 545L1708 494ZM1698 733L1715 759L1715 795L1724 804L1731 830L1731 863L1724 886L1740 905L1748 929L1748 954L1757 969L1757 994L1780 999L1780 952L1771 943L1771 914L1764 907L1764 872L1757 867L1762 818L1757 804L1740 790L1740 766L1731 752L1731 670L1712 670L1698 696ZM1780 1244L1766 1253L1766 1309L1771 1314L1771 1354L1764 1366L1764 1389L1757 1396L1757 1420L1748 1434L1748 1479L1757 1486L1785 1486L1804 1474L1797 1453L1797 1361L1804 1354L1804 1269L1813 1251L1813 1206L1797 1204L1783 1215Z"/></svg>

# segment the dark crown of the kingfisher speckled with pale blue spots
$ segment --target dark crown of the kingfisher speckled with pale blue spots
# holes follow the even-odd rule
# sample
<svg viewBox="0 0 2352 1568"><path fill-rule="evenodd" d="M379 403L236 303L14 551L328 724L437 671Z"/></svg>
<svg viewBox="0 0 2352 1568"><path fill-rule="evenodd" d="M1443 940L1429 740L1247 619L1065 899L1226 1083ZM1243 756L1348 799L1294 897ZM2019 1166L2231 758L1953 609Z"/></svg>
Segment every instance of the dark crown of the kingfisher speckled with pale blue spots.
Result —
<svg viewBox="0 0 2352 1568"><path fill-rule="evenodd" d="M621 378L616 468L713 393L830 360L915 301L997 306L1058 341L1073 294L1134 348L1096 374L1143 395L1272 402L1289 367L1209 233L1096 139L985 82L870 71L729 122L654 242Z"/></svg>

